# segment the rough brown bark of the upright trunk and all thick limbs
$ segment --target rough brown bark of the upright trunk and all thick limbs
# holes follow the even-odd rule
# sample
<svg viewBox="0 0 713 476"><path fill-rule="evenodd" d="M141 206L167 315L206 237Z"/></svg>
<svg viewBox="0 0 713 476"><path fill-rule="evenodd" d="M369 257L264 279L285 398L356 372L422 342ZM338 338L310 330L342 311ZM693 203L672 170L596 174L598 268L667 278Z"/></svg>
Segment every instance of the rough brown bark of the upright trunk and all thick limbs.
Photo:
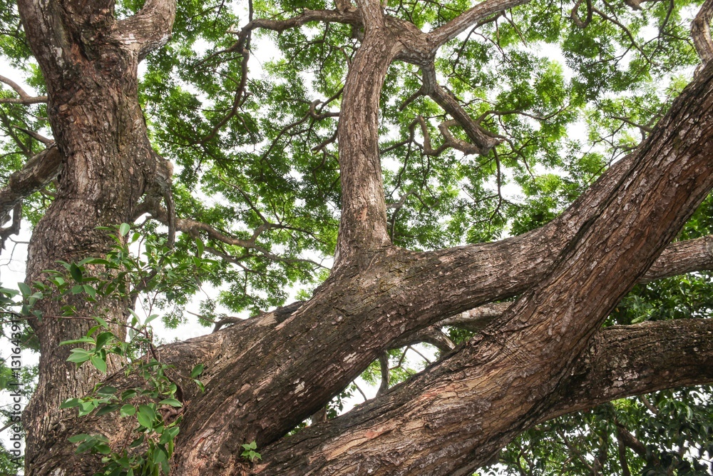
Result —
<svg viewBox="0 0 713 476"><path fill-rule="evenodd" d="M708 320L601 329L635 283L713 268L710 238L670 245L713 188L713 65L699 71L646 141L543 228L425 253L391 245L378 148L389 65L396 59L421 65L423 93L486 153L497 139L438 86L432 61L464 29L523 3L486 0L429 34L385 16L374 0L306 11L289 24L248 25L279 31L325 20L363 28L339 117L337 255L330 277L304 303L160 349L178 374L190 374L198 363L206 369L205 393L183 385L172 474L468 475L550 417L713 381ZM57 260L105 255L113 242L96 227L131 221L142 200L161 196L170 181L170 166L148 140L137 68L168 41L175 1L149 0L122 21L110 0L18 4L47 81L55 143L0 191L0 212L59 174L56 199L31 239L32 283ZM706 38L709 43L709 33ZM179 231L202 226L176 223ZM495 303L516 296L515 303ZM76 305L80 316L114 320L125 319L131 305L43 301L45 318L31 323L41 362L38 390L24 414L27 475L91 475L98 457L74 455L67 437L102 432L121 442L132 430L118 415L78 419L76 410L58 410L103 378L88 365L66 362L68 348L58 343L91 327L87 320L51 318L66 304ZM429 338L448 349L434 325L479 333L357 410L285 437L384 350ZM119 325L114 330L123 333ZM135 385L116 370L118 362L110 362L107 383ZM262 460L250 463L240 445L253 440Z"/></svg>

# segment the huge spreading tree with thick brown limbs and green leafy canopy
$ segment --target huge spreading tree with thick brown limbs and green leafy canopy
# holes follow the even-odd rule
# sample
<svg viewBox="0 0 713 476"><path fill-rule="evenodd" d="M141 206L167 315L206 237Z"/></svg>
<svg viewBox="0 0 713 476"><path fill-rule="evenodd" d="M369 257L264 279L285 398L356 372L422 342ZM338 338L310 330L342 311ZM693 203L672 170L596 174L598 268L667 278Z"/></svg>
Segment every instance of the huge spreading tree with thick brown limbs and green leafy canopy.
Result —
<svg viewBox="0 0 713 476"><path fill-rule="evenodd" d="M713 325L697 318L708 275L686 278L700 299L680 280L655 295L641 285L713 264L712 5L251 1L241 22L225 2L4 3L4 55L46 93L0 78L14 90L0 100L0 206L12 211L2 237L23 208L34 225L21 317L41 360L23 417L26 474L93 474L135 440L118 407L77 415L87 395L148 385L118 355L90 359L95 326L123 341L141 293L172 309L195 286L161 283L188 275L253 317L222 318L207 300L201 318L216 332L149 345L180 410L125 400L161 431L180 417L176 475L470 474L560 415L710 383ZM265 64L270 80L249 74L265 31L284 52ZM538 53L552 44L571 79ZM585 121L590 150L568 140ZM133 239L116 227L146 214L148 268L111 267ZM315 256L331 253L327 275ZM109 281L123 292L98 284ZM319 285L263 312L294 283ZM671 286L682 299L660 306L683 319L652 320ZM81 336L94 347L72 361L59 343ZM415 342L441 357L386 391L385 352ZM325 418L375 361L385 391ZM205 392L193 383L201 365ZM624 448L617 471L629 474L626 448L668 470L616 407L598 408ZM577 455L563 425L555 433ZM82 441L94 456L75 454ZM168 440L157 444L170 456ZM595 461L579 452L583 471L610 464L607 445Z"/></svg>

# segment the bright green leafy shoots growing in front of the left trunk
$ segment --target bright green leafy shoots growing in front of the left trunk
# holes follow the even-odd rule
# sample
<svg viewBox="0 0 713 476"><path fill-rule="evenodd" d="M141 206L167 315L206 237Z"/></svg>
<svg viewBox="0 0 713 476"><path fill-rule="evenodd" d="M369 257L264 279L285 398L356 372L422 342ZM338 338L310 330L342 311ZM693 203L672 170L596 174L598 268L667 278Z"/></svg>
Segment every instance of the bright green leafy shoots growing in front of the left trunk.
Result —
<svg viewBox="0 0 713 476"><path fill-rule="evenodd" d="M62 308L61 316L43 316L33 309L43 298L63 300L66 295L82 295L89 302L106 303L107 300L124 300L138 293L171 294L172 299L180 293L188 293L200 285L197 276L210 272L212 260L201 258L202 243L198 244L198 255L192 260L181 260L163 238L142 237L140 233L128 236L130 226L122 223L116 229L106 228L116 242L113 250L105 258L85 258L79 263L59 262L63 270L46 270L48 279L44 283L33 283L33 290L25 283L18 283L16 290L2 289L2 304L6 308L20 307L14 315L34 315L43 318L78 318L72 305ZM138 245L143 250L138 258L130 248ZM91 269L90 269L91 268ZM21 301L15 302L15 296ZM92 365L101 373L107 372L109 359L120 358L124 375L136 375L142 386L118 390L111 385L97 384L92 392L83 397L70 398L60 408L76 408L78 416L93 414L96 417L110 412L119 412L121 417L133 417L138 426L138 435L122 447L111 447L110 438L102 434L78 434L69 438L78 443L76 452L93 452L103 455L105 463L101 475L168 475L169 461L173 455L175 437L180 431L180 409L183 391L171 377L175 373L170 365L160 361L153 343L151 321L158 314L149 315L143 322L132 309L127 309L130 319L127 323L117 323L106 315L93 315L96 321L86 335L66 340L60 345L81 345L71 349L67 360L81 365ZM117 335L117 325L128 328L128 340ZM2 369L4 370L4 369ZM190 378L200 390L204 390L198 377L203 365L193 368ZM7 457L6 453L3 453ZM259 454L257 454L259 457Z"/></svg>

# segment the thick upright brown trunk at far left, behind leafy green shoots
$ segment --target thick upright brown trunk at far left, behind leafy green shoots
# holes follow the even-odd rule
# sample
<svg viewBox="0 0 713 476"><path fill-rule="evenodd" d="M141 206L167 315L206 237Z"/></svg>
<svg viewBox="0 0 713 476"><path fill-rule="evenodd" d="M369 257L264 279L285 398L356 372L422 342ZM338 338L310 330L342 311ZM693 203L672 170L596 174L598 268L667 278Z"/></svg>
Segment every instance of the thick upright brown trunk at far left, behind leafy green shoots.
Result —
<svg viewBox="0 0 713 476"><path fill-rule="evenodd" d="M96 228L130 221L140 197L153 188L157 170L165 175L165 165L150 146L138 104L138 62L145 47L122 40L113 3L94 2L85 9L69 1L20 1L19 11L46 79L48 118L63 158L56 198L29 246L26 280L34 283L46 280L43 270L58 269L58 260L76 263L106 255L113 239ZM169 31L172 23L171 16ZM53 317L63 315L64 305L75 306L78 318ZM90 365L77 368L66 362L69 348L58 343L96 325L82 318L98 315L123 323L130 305L128 297L98 303L83 295L40 301L43 318L31 321L41 347L39 385L24 414L28 474L48 474L58 467L58 434L75 425L74 412L59 411L59 405L86 395L103 379ZM125 335L121 325L111 330ZM110 359L108 373L118 365Z"/></svg>

